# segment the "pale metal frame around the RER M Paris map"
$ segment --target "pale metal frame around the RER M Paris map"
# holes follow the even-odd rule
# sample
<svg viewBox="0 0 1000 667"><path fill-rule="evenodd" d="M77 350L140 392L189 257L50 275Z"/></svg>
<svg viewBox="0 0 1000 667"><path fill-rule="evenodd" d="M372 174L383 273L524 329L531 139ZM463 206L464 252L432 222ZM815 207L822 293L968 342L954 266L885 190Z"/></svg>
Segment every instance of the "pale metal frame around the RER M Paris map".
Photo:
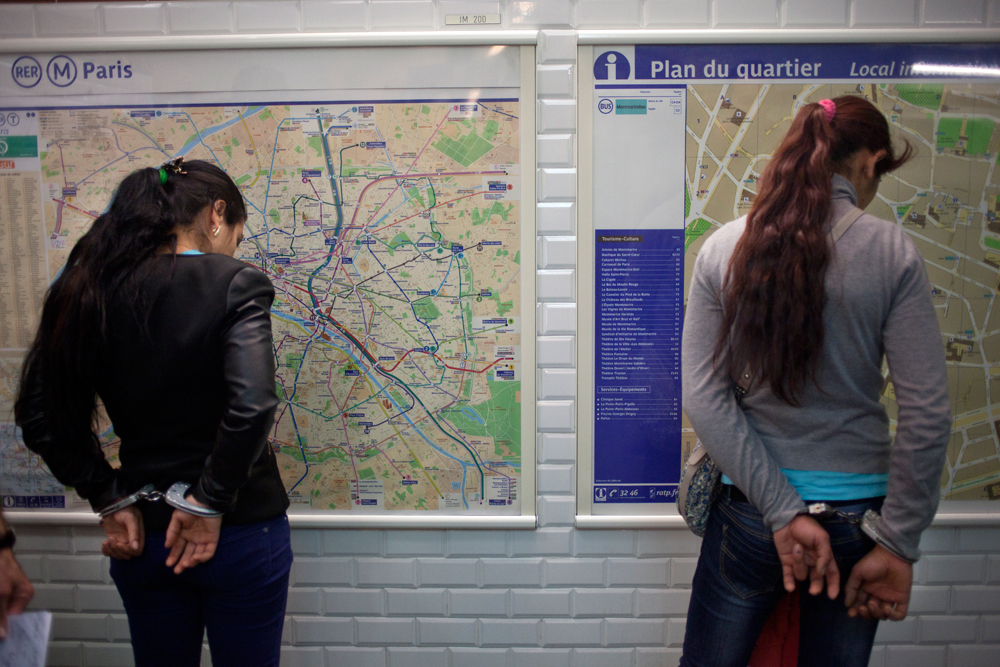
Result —
<svg viewBox="0 0 1000 667"><path fill-rule="evenodd" d="M487 516L471 514L349 514L289 512L296 528L352 529L491 529L533 530L535 516L535 201L536 107L535 30L300 33L295 35L195 35L180 37L85 37L73 39L0 40L0 53L75 53L85 51L177 51L201 49L287 49L363 46L493 46L520 47L521 142L521 514ZM485 492L485 490L484 490ZM9 511L5 518L19 525L95 525L96 514L79 510Z"/></svg>

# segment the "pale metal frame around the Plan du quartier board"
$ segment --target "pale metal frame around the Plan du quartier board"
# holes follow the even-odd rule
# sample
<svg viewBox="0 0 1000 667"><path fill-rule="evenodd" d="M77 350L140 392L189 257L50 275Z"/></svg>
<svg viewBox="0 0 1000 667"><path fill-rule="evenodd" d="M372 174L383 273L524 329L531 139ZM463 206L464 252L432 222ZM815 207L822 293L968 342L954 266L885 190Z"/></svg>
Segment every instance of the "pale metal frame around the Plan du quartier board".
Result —
<svg viewBox="0 0 1000 667"><path fill-rule="evenodd" d="M913 28L889 30L581 30L577 47L577 113L578 113L578 192L577 210L577 275L590 276L583 267L594 260L593 221L593 92L594 46L623 44L795 44L822 43L930 43L930 42L1000 42L1000 29L963 28L919 30ZM587 97L584 100L584 97ZM644 514L593 514L593 410L594 364L591 354L595 341L591 325L594 321L593 281L580 280L577 285L577 512L575 526L579 529L687 529L676 507L659 508ZM972 510L972 511L970 511ZM943 501L932 526L998 526L1000 509L989 501Z"/></svg>

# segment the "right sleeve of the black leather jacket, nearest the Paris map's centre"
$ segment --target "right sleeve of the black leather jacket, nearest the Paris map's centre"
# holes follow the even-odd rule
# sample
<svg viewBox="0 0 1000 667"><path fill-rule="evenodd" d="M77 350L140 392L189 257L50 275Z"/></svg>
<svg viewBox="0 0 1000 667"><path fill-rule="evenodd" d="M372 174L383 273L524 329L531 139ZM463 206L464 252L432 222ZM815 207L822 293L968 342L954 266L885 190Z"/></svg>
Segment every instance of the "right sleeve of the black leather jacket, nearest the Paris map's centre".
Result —
<svg viewBox="0 0 1000 667"><path fill-rule="evenodd" d="M196 500L217 510L233 508L274 421L278 397L271 340L273 301L271 282L252 267L237 273L229 285L222 330L226 409L215 447L193 490Z"/></svg>

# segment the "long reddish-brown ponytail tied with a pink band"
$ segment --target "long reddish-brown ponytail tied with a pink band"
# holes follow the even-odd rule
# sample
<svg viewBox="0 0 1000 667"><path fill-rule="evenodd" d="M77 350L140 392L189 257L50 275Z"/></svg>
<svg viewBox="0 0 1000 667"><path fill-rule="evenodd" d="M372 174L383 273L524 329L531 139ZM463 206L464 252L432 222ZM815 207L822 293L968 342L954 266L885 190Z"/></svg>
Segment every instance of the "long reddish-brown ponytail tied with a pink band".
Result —
<svg viewBox="0 0 1000 667"><path fill-rule="evenodd" d="M815 381L823 347L832 175L863 148L886 151L875 166L878 176L913 152L909 143L893 152L885 116L867 100L844 96L833 103L829 121L819 103L802 107L761 175L729 262L715 347L730 377L749 365L755 383L793 406L806 381Z"/></svg>

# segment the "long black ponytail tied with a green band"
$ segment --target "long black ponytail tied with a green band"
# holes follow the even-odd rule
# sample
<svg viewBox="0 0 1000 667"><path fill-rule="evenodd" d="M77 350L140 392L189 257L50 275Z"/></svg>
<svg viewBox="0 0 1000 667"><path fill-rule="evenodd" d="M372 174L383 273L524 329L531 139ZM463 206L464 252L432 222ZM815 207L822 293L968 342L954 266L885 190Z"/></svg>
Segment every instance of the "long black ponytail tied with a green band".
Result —
<svg viewBox="0 0 1000 667"><path fill-rule="evenodd" d="M138 303L138 285L149 270L146 260L164 248L176 251L176 232L192 226L206 206L224 201L229 225L246 219L243 196L226 172L200 160L181 169L184 173L168 172L165 183L156 168L126 176L107 212L73 247L49 287L25 357L14 403L18 423L28 416L26 379L40 373L52 435L63 442L79 442L87 434L93 438L109 304Z"/></svg>

